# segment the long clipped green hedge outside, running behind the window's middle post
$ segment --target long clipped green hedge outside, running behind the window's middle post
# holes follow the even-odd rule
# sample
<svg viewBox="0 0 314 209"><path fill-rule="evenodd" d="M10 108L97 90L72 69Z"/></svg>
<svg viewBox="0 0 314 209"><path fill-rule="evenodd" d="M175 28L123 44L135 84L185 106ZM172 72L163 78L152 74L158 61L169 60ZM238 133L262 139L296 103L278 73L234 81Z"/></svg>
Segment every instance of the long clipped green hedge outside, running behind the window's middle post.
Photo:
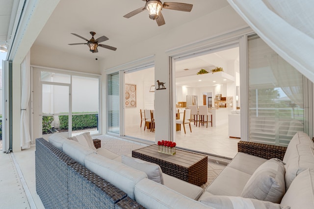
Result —
<svg viewBox="0 0 314 209"><path fill-rule="evenodd" d="M78 114L78 113L75 113ZM97 127L98 114L72 116L72 130ZM69 116L59 116L60 129L69 129Z"/></svg>

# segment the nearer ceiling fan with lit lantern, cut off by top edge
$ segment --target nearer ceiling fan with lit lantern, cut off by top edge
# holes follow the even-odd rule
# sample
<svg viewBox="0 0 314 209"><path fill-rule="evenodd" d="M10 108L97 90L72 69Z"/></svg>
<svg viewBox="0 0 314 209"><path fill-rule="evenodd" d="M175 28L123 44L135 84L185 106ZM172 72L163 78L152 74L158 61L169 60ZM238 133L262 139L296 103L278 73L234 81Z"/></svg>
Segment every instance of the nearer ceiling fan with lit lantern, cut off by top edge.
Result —
<svg viewBox="0 0 314 209"><path fill-rule="evenodd" d="M145 6L135 9L130 13L126 14L125 18L131 18L132 16L144 11L145 9L149 12L149 17L152 20L156 20L158 26L165 24L165 20L161 14L162 9L173 9L183 12L190 12L192 10L193 4L188 3L178 3L178 2L164 2L161 3L160 0L143 0L146 1Z"/></svg>

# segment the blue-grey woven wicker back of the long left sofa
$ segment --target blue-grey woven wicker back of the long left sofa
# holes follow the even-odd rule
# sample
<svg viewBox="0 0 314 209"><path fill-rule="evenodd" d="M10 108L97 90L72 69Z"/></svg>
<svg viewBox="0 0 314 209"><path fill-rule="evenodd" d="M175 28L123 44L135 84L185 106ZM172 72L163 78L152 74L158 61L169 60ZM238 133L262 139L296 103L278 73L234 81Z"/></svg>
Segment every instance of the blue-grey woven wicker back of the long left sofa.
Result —
<svg viewBox="0 0 314 209"><path fill-rule="evenodd" d="M35 173L36 192L46 209L144 209L43 138L36 139Z"/></svg>

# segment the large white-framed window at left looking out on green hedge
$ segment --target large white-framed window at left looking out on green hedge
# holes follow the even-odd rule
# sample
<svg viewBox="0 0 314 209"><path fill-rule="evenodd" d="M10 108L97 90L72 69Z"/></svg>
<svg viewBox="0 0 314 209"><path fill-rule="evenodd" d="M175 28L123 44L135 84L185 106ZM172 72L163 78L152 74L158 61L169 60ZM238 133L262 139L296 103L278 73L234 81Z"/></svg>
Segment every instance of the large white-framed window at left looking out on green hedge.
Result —
<svg viewBox="0 0 314 209"><path fill-rule="evenodd" d="M40 71L42 134L99 133L99 76L65 73Z"/></svg>

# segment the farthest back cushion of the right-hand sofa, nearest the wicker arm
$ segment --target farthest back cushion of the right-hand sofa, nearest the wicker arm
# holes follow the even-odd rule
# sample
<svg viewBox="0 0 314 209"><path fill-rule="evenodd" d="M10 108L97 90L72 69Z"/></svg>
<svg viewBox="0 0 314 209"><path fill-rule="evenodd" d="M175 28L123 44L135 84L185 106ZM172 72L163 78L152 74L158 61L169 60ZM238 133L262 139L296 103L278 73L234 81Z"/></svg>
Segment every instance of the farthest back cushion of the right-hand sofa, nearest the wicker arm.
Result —
<svg viewBox="0 0 314 209"><path fill-rule="evenodd" d="M297 144L305 144L305 145L309 145L311 147L314 148L314 142L310 139L310 137L303 132L297 132L292 139L290 140L283 162L287 163L289 161L289 158L291 155L293 155L293 153L295 152L296 146Z"/></svg>

